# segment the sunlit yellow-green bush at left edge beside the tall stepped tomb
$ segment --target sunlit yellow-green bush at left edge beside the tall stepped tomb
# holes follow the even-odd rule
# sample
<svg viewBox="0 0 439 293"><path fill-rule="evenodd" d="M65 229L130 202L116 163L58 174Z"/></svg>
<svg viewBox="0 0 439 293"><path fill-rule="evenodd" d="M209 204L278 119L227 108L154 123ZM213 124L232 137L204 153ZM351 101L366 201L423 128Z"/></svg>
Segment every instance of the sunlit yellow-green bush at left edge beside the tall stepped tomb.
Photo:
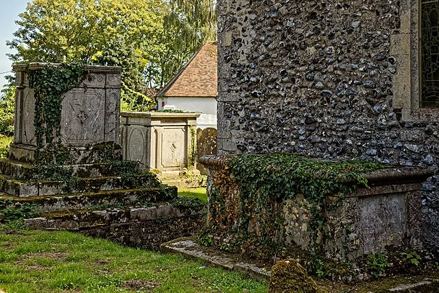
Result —
<svg viewBox="0 0 439 293"><path fill-rule="evenodd" d="M14 134L15 86L10 84L1 90L0 97L0 135Z"/></svg>

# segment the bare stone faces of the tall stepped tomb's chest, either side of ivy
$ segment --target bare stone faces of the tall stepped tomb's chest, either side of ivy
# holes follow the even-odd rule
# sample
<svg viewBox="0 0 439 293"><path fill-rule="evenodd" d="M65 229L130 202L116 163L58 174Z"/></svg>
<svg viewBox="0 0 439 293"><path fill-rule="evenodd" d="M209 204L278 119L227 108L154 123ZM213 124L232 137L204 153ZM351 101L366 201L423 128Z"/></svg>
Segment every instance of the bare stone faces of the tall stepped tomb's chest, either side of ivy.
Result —
<svg viewBox="0 0 439 293"><path fill-rule="evenodd" d="M27 71L44 69L44 63L15 65L16 108L11 159L35 163L34 91ZM119 143L121 67L87 66L88 75L76 88L64 93L60 141L70 152L70 164L95 163L89 149L98 143ZM43 150L45 145L43 145ZM89 156L88 159L85 159Z"/></svg>

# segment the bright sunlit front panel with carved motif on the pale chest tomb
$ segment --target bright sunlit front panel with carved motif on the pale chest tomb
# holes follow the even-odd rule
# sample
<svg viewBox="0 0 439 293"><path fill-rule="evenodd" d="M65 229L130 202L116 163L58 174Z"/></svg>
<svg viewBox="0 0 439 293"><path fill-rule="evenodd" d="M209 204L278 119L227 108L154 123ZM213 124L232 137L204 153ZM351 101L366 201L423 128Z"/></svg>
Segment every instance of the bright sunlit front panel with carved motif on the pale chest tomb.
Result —
<svg viewBox="0 0 439 293"><path fill-rule="evenodd" d="M168 128L161 133L161 165L163 167L180 167L186 163L185 128Z"/></svg>

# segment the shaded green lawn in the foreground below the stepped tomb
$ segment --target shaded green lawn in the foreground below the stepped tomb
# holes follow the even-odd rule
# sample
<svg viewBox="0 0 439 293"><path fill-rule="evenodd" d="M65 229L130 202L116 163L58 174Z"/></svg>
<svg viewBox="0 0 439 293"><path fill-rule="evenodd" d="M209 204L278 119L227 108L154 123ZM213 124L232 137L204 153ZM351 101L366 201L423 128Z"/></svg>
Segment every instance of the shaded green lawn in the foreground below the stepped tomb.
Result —
<svg viewBox="0 0 439 293"><path fill-rule="evenodd" d="M0 233L0 288L25 292L267 292L237 272L64 231Z"/></svg>

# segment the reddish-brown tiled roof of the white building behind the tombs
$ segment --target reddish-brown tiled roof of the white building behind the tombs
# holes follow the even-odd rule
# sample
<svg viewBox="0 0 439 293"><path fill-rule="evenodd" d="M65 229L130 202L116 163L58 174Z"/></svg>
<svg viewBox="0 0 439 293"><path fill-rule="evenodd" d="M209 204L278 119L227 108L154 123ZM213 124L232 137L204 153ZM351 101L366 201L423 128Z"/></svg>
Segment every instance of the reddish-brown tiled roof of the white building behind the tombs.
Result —
<svg viewBox="0 0 439 293"><path fill-rule="evenodd" d="M157 97L216 97L217 42L207 42Z"/></svg>

